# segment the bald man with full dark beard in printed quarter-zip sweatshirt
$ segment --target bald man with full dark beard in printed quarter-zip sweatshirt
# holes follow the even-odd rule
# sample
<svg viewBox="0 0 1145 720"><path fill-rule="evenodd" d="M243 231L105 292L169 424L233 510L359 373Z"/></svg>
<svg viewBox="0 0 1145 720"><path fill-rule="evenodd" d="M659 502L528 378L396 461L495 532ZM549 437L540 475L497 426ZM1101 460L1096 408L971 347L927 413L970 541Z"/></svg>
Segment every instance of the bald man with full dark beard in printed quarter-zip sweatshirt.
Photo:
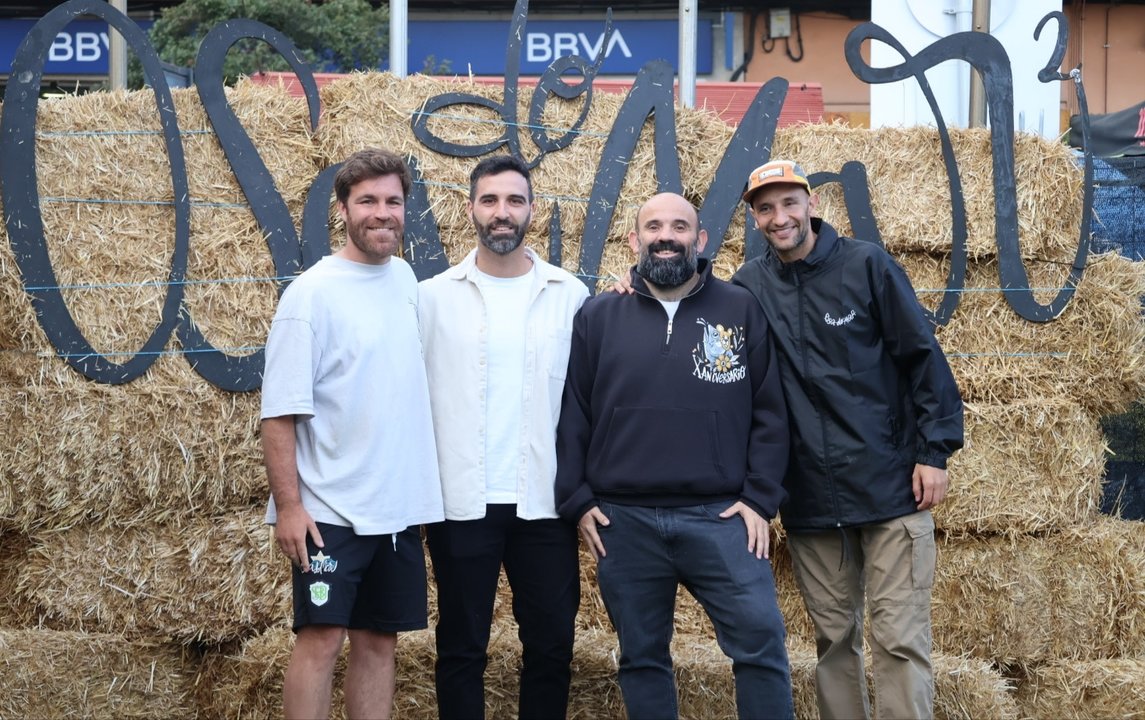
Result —
<svg viewBox="0 0 1145 720"><path fill-rule="evenodd" d="M633 294L577 312L556 429L556 506L597 557L629 718L676 718L669 642L679 584L733 662L741 718L793 717L767 560L785 493L787 406L767 321L712 277L695 208L637 214Z"/></svg>

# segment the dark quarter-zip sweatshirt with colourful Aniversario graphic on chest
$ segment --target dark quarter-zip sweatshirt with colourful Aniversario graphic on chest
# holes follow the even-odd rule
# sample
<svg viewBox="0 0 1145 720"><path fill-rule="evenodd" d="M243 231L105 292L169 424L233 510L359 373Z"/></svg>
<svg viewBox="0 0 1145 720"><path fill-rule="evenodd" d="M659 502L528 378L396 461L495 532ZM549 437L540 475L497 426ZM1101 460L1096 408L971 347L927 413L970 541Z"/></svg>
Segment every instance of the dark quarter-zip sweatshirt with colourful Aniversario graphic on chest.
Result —
<svg viewBox="0 0 1145 720"><path fill-rule="evenodd" d="M679 507L743 500L765 519L783 500L787 408L767 321L751 293L700 282L669 322L643 279L590 298L572 322L556 426L556 511L598 499Z"/></svg>

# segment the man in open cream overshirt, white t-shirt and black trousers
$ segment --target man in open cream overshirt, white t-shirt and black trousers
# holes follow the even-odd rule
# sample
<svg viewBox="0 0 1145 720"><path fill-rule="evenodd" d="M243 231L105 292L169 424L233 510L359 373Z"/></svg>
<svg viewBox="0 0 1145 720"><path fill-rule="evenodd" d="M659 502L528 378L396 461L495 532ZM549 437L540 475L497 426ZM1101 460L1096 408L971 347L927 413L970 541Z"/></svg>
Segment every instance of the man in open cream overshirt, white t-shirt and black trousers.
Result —
<svg viewBox="0 0 1145 720"><path fill-rule="evenodd" d="M484 717L502 565L522 667L519 715L563 718L581 601L575 529L558 519L555 427L572 316L589 295L523 244L529 168L493 156L469 175L476 247L420 285L445 521L426 528L437 584L437 711Z"/></svg>

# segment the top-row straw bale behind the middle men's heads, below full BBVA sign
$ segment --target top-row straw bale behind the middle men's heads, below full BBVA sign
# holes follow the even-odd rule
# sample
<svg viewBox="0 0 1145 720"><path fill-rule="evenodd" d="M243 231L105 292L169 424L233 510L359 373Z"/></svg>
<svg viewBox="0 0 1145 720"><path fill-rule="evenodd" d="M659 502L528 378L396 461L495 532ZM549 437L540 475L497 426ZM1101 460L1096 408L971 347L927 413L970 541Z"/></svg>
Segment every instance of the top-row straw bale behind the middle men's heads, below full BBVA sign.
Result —
<svg viewBox="0 0 1145 720"><path fill-rule="evenodd" d="M414 156L427 180L426 190L442 244L450 262L457 262L474 242L465 201L468 197L468 175L476 160L436 155L414 137L410 127L411 118L420 111L425 101L443 93L467 93L495 101L504 97L499 87L476 85L466 79L443 80L425 76L400 79L386 73L354 73L322 87L325 116L316 137L319 155L326 164L341 160L364 144ZM519 96L519 127L506 128L500 117L487 109L455 105L435 114L428 128L439 137L461 145L484 144L503 134L516 134L521 139L522 155L532 160L538 157L539 150L531 141L529 128L524 127L530 97L529 92ZM559 203L564 251L562 264L566 268L578 264L579 238L584 234L593 177L622 103L622 95L594 93L592 106L575 142L546 155L534 171L537 209L526 242L542 256L547 256L548 224L553 206ZM546 132L552 137L562 135L572 127L582 109L581 98L550 98L543 114ZM732 128L704 111L677 109L676 120L681 176L692 183L685 189L685 195L698 204L716 169L710 149L726 145ZM619 196L622 200L608 231L602 275L608 274L606 269L615 271L631 264L625 243L627 231L635 223L639 204L656 192L650 126L646 129L629 158L629 174ZM742 232L739 247L742 260Z"/></svg>

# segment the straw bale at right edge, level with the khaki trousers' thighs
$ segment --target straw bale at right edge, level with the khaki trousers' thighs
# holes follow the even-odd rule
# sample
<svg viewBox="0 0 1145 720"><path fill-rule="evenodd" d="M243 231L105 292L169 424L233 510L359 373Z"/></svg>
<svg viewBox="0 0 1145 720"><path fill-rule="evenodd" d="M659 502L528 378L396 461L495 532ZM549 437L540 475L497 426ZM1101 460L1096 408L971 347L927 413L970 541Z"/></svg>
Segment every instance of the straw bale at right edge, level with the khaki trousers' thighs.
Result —
<svg viewBox="0 0 1145 720"><path fill-rule="evenodd" d="M941 541L935 649L1001 664L1145 651L1142 527L1105 519L1042 537Z"/></svg>

